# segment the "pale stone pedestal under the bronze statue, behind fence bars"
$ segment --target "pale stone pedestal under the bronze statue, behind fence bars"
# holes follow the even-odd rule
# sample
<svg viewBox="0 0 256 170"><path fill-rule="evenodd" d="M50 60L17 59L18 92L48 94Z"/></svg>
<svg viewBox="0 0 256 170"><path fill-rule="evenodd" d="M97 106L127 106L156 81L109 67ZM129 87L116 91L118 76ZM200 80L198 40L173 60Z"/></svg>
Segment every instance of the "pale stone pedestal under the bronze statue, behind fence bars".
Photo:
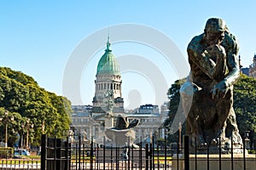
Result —
<svg viewBox="0 0 256 170"><path fill-rule="evenodd" d="M196 161L195 161L196 160ZM196 163L195 163L196 162ZM207 162L209 162L209 169L219 169L219 156L209 155L209 161L207 161L207 155L189 155L189 170L195 169L207 169ZM246 169L254 170L256 168L255 155L246 155ZM196 165L195 165L196 164ZM177 169L177 157L172 157L172 169ZM196 166L196 168L195 168ZM230 154L221 155L221 169L231 169L232 159ZM234 154L233 156L233 170L241 170L244 168L244 160L242 154ZM179 156L178 170L184 169L184 157Z"/></svg>

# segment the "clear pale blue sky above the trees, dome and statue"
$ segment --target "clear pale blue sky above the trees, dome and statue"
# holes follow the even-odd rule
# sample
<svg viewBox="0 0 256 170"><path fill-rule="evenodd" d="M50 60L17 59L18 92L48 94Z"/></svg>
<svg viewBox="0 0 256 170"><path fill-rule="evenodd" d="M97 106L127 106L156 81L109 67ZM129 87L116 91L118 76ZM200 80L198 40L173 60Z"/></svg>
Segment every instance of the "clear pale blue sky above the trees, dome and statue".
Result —
<svg viewBox="0 0 256 170"><path fill-rule="evenodd" d="M253 0L0 0L0 66L24 72L73 105L92 105L109 35L125 108L161 105L172 83L189 73L186 48L211 17L226 21L239 41L241 64L252 64L255 8Z"/></svg>

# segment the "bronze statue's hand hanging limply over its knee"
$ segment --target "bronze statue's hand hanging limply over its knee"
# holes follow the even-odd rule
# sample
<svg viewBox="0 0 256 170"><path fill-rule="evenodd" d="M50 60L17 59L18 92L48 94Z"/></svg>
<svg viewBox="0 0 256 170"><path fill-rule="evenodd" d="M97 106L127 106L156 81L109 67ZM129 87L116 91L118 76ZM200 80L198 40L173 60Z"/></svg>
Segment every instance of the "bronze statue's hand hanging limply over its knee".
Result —
<svg viewBox="0 0 256 170"><path fill-rule="evenodd" d="M218 82L212 88L212 99L224 99L229 90L229 86L226 81Z"/></svg>

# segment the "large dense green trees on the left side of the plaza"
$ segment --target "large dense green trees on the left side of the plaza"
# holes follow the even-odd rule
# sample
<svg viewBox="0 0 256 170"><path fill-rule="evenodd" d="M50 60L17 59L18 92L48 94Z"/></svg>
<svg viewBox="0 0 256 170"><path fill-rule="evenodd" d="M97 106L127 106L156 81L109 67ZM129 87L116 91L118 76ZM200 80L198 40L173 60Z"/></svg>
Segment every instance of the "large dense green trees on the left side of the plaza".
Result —
<svg viewBox="0 0 256 170"><path fill-rule="evenodd" d="M32 77L0 67L0 116L4 116L6 111L9 111L9 116L15 117L15 121L8 124L8 143L11 146L18 138L17 133L26 133L21 124L27 119L34 125L29 131L32 144L40 144L43 122L44 133L60 138L63 129L69 128L72 109L69 100L40 88ZM2 122L0 141L5 137L4 127Z"/></svg>

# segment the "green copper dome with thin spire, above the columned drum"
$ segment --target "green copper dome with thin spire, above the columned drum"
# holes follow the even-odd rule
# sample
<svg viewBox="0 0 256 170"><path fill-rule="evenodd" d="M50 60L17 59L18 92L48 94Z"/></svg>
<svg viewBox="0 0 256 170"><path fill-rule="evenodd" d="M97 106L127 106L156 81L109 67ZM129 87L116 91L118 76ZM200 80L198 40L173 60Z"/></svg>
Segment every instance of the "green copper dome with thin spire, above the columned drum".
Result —
<svg viewBox="0 0 256 170"><path fill-rule="evenodd" d="M111 52L112 50L110 49L110 43L108 41L107 48L105 49L105 54L102 55L102 58L98 63L96 75L120 75L119 63Z"/></svg>

